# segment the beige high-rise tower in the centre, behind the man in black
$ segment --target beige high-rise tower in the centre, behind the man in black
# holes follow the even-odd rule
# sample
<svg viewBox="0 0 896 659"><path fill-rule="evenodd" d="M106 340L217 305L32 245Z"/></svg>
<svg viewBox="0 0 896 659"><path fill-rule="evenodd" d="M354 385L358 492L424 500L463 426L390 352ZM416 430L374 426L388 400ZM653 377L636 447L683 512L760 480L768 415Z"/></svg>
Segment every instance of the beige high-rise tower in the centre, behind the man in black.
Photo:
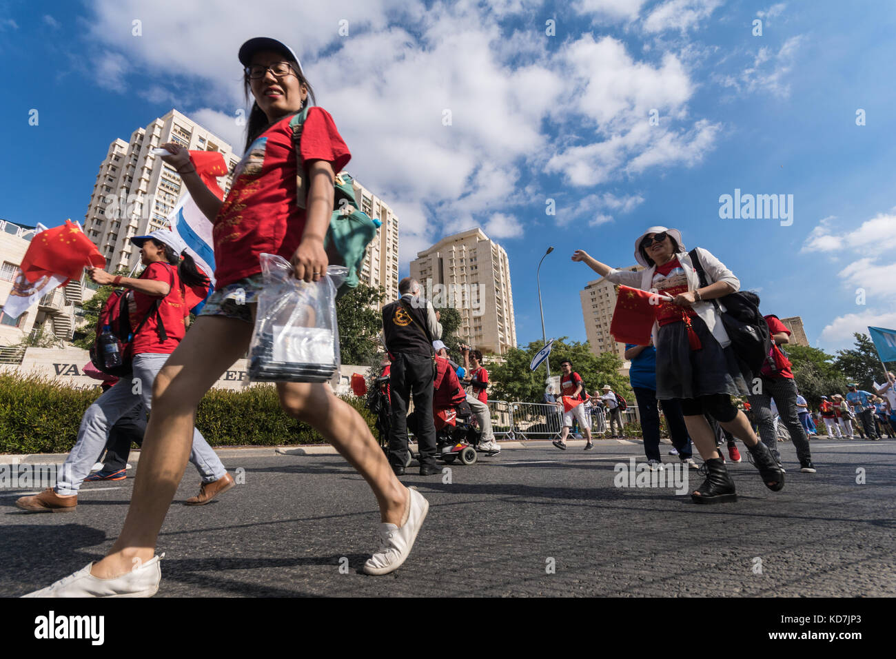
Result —
<svg viewBox="0 0 896 659"><path fill-rule="evenodd" d="M516 347L510 262L504 247L481 229L455 233L418 252L410 276L435 306L461 312L461 341L497 354Z"/></svg>

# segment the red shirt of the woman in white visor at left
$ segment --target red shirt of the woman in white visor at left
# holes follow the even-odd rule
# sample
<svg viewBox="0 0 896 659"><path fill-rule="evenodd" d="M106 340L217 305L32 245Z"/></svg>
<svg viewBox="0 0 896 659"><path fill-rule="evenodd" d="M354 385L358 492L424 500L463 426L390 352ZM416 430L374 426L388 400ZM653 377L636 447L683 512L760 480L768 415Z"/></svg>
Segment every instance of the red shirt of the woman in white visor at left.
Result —
<svg viewBox="0 0 896 659"><path fill-rule="evenodd" d="M162 318L162 325L165 327L165 333L168 335L168 338L165 341L159 338L159 316L152 314L143 323L140 332L134 336L133 354L139 355L142 352L151 352L153 354L169 355L183 341L186 333L184 318L189 316L190 313L189 309L186 308L184 291L181 289L177 268L173 265L159 262L152 263L141 273L140 279L165 282L171 286L168 295L161 298L162 301L159 305L159 316ZM159 297L146 295L136 290L129 291L127 297L128 320L131 323L131 331L134 332L137 329L137 325L140 325L143 316L146 316L146 312L150 310L152 304Z"/></svg>

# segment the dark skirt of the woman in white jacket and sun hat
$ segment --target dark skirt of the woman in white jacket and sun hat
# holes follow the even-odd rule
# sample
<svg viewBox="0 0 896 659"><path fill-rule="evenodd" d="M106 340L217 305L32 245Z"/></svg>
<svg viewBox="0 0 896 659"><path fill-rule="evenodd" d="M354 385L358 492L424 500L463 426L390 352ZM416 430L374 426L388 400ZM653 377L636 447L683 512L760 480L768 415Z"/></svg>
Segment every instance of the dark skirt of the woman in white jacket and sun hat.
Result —
<svg viewBox="0 0 896 659"><path fill-rule="evenodd" d="M719 321L721 322L721 321ZM748 395L753 374L728 345L722 348L700 316L691 318L701 348L691 350L684 323L659 327L657 335L657 398L699 398L703 395Z"/></svg>

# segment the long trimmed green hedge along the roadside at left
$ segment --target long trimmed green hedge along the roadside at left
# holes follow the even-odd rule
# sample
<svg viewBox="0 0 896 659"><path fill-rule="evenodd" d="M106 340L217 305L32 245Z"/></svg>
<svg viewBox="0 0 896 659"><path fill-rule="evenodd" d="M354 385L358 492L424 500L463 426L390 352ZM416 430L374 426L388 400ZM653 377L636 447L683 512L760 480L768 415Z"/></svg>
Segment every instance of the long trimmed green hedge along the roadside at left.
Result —
<svg viewBox="0 0 896 659"><path fill-rule="evenodd" d="M0 373L0 454L70 451L84 412L101 393L99 386L74 388L45 377ZM360 412L376 437L375 418L364 400L355 395L340 398ZM273 385L212 389L199 403L196 426L213 447L323 442L308 424L280 410Z"/></svg>

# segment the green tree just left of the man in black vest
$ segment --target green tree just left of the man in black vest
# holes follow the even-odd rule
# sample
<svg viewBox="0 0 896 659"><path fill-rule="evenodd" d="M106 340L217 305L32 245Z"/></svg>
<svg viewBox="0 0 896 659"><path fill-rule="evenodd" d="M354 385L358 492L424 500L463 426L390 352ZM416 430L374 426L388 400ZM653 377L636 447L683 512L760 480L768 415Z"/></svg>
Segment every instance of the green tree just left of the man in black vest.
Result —
<svg viewBox="0 0 896 659"><path fill-rule="evenodd" d="M359 283L336 300L339 323L339 351L343 364L365 366L375 361L380 351L379 334L383 331L383 287Z"/></svg>

